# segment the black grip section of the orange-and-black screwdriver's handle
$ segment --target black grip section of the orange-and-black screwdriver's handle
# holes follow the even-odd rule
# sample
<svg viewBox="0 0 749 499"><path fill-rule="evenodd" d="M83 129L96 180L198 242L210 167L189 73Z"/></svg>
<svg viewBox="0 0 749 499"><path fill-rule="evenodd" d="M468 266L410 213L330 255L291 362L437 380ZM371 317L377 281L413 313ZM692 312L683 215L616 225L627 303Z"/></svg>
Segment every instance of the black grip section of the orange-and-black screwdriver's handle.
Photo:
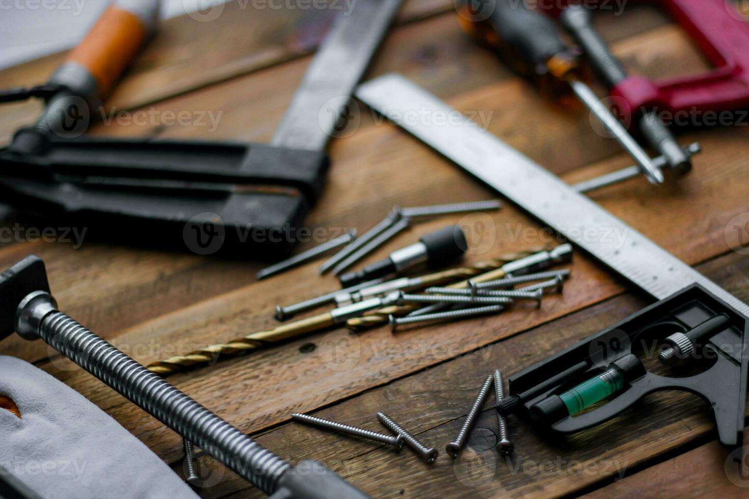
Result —
<svg viewBox="0 0 749 499"><path fill-rule="evenodd" d="M542 13L530 10L524 1L497 0L488 21L499 37L500 47L510 52L509 64L526 73L567 48L557 26Z"/></svg>

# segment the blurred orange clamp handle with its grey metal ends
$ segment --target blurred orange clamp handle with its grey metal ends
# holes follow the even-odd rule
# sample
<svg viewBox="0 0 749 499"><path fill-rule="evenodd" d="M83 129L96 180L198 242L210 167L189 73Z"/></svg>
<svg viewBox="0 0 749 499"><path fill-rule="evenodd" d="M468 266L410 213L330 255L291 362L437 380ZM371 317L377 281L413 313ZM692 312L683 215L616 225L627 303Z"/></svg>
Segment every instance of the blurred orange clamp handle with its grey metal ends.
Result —
<svg viewBox="0 0 749 499"><path fill-rule="evenodd" d="M46 100L46 108L37 120L37 129L46 132L56 131L59 113L67 116L73 109L79 113L96 107L154 32L159 6L160 0L115 0L52 73L49 82L2 91L0 102L31 97ZM79 105L81 100L85 106Z"/></svg>

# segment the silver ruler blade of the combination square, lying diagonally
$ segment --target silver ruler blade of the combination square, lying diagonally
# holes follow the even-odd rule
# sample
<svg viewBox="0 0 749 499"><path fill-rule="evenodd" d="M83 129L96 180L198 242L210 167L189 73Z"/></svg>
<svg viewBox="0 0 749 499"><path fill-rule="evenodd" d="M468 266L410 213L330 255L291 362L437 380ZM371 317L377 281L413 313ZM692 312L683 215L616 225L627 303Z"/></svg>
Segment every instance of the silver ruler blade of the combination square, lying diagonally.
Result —
<svg viewBox="0 0 749 499"><path fill-rule="evenodd" d="M749 316L747 304L403 76L356 95L655 299L699 283Z"/></svg>

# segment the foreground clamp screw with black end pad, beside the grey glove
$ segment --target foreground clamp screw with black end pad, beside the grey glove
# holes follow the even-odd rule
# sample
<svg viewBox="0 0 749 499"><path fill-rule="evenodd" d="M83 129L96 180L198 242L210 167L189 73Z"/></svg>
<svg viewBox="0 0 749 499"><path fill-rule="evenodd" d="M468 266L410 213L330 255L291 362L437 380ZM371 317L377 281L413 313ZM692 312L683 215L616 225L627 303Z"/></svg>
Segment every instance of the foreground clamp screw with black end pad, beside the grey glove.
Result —
<svg viewBox="0 0 749 499"><path fill-rule="evenodd" d="M46 269L27 257L0 273L0 340L13 334L45 343L96 376L273 498L369 496L318 462L291 468L160 376L64 315L49 294Z"/></svg>

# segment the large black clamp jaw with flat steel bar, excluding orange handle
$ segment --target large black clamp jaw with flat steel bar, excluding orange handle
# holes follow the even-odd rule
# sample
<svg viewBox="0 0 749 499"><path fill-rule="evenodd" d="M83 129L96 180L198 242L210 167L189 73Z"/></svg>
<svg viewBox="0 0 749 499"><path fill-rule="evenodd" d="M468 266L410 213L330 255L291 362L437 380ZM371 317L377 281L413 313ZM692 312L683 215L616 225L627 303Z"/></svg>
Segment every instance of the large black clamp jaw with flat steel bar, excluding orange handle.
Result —
<svg viewBox="0 0 749 499"><path fill-rule="evenodd" d="M0 150L1 195L118 240L285 254L323 188L324 147L399 5L357 1L337 19L270 144L77 137L99 94L85 91L85 74L55 77L37 123Z"/></svg>

